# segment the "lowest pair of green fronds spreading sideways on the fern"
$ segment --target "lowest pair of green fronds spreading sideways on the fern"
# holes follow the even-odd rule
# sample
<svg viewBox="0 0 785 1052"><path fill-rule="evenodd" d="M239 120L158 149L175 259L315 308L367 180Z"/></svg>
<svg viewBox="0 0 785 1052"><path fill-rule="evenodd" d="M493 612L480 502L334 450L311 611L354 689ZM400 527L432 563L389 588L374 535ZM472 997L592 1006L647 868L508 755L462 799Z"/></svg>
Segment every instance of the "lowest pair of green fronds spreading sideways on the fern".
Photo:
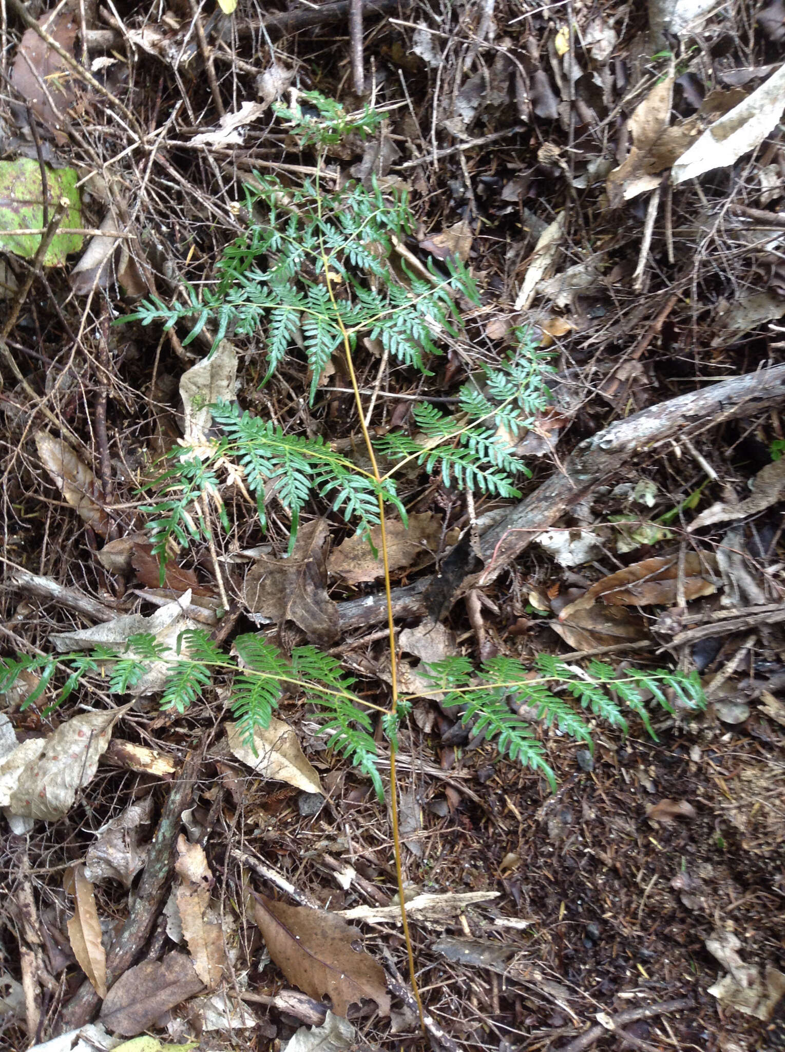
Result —
<svg viewBox="0 0 785 1052"><path fill-rule="evenodd" d="M73 692L82 680L95 676L102 684L108 670L109 693L132 691L149 672L153 662L163 662L167 674L161 688L161 707L185 713L216 675L230 680L230 707L243 741L252 744L254 731L269 726L285 694L302 696L314 707L314 719L327 736L329 748L346 756L372 782L379 800L384 785L378 767L378 748L373 736L373 714L383 717L386 737L396 743L400 719L417 695L399 700L393 716L387 709L360 697L355 680L331 654L316 647L294 647L287 655L263 635L248 633L234 640L234 654L221 651L202 629L182 632L173 648L152 635L131 636L124 648L101 646L88 655L70 653L57 660L39 655L17 655L0 661L0 692L8 690L22 671L41 675L36 690L22 708L38 702L53 686L55 673L65 675L50 711ZM556 775L544 745L532 723L519 709L533 708L538 721L593 749L592 727L584 713L600 724L628 732L623 707L638 715L656 740L644 703L644 692L673 713L666 691L678 695L688 708L705 704L697 673L656 669L627 669L623 673L602 662L592 662L586 670L566 665L558 658L540 654L539 675L510 658L493 658L475 669L468 658L455 656L434 662L427 668L430 696L439 692L445 708L460 708L461 722L475 736L494 742L502 755L518 761L544 775L556 789ZM564 696L572 694L579 707Z"/></svg>

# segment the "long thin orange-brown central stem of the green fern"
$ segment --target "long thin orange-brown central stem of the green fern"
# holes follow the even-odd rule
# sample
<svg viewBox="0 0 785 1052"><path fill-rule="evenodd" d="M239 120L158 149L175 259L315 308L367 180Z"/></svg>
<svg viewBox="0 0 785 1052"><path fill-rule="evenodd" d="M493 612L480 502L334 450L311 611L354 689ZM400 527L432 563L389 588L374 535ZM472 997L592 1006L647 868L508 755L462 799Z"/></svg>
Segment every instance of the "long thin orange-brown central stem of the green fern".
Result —
<svg viewBox="0 0 785 1052"><path fill-rule="evenodd" d="M317 190L317 204L316 207L319 211L319 219L322 218L322 198L318 196L318 173L321 168L321 163L316 165L316 190ZM319 235L321 239L321 235ZM377 490L377 500L379 506L379 547L381 550L381 564L385 571L385 601L387 603L387 632L388 632L388 644L390 651L390 691L391 691L391 703L390 703L390 715L392 716L393 723L396 720L398 712L398 668L397 668L397 658L395 653L395 621L393 618L392 608L392 582L390 580L390 557L389 549L387 545L387 523L385 519L385 499L381 495L383 481L379 473L378 464L376 463L376 453L373 448L373 443L371 442L371 436L368 432L368 425L366 424L365 413L363 412L363 399L359 393L359 385L357 383L357 375L354 369L354 361L352 359L352 348L349 338L349 332L344 324L344 320L338 310L338 305L335 302L335 291L332 285L332 278L330 274L330 266L325 254L324 244L321 245L323 261L325 266L325 280L327 282L327 290L330 296L330 302L332 303L333 309L335 311L335 318L337 320L338 327L340 329L340 336L344 342L344 352L346 355L347 368L349 370L349 381L351 383L352 391L354 392L354 404L357 409L357 419L359 420L359 426L363 431L363 441L366 445L366 451L368 453L368 459L371 462L371 469L373 471L373 478L376 485L379 487ZM395 878L398 885L398 902L400 904L400 923L404 931L404 940L406 943L407 956L409 958L409 982L412 986L412 993L414 994L414 999L417 1003L417 1012L419 1013L420 1027L422 1032L426 1032L426 1013L422 1007L422 998L420 997L419 988L417 986L417 975L416 968L414 964L414 947L412 946L412 937L409 931L409 920L406 914L406 893L404 888L404 868L401 865L402 849L400 846L400 824L398 822L398 786L396 776L396 752L397 743L395 734L390 735L390 824L392 827L392 839L393 839L393 854L395 856Z"/></svg>

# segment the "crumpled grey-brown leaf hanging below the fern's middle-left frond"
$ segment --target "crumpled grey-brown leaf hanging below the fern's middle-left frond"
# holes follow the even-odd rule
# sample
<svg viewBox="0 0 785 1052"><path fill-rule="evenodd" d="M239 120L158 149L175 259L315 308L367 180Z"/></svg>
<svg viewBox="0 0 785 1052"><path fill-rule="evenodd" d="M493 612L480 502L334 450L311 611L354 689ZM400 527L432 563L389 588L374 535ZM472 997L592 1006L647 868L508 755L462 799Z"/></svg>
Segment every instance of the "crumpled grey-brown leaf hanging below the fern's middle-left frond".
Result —
<svg viewBox="0 0 785 1052"><path fill-rule="evenodd" d="M327 594L326 519L301 526L289 559L262 555L248 570L244 599L252 613L281 624L293 621L309 642L329 646L338 634L338 610Z"/></svg>

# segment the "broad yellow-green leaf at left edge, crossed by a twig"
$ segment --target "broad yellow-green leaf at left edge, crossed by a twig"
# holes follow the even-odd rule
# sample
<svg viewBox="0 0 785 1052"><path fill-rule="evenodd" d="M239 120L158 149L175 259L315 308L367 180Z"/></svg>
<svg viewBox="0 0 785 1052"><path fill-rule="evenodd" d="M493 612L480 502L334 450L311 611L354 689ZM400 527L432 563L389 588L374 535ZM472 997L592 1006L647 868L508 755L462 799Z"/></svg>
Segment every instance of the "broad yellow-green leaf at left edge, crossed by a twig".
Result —
<svg viewBox="0 0 785 1052"><path fill-rule="evenodd" d="M46 168L46 202L51 216L60 198L70 202L60 224L62 229L82 225L79 198L79 173L76 168ZM0 248L33 259L41 243L40 234L15 234L16 230L40 230L43 222L43 187L38 161L20 157L0 161ZM81 234L57 234L43 259L44 266L62 266L69 252L82 247Z"/></svg>

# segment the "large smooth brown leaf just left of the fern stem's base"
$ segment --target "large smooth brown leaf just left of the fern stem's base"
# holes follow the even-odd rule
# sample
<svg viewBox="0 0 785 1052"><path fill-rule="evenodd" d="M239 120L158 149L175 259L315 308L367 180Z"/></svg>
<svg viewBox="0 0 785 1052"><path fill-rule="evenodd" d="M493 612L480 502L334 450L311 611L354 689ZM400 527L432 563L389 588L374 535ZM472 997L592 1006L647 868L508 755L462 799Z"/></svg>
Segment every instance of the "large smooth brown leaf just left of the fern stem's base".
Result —
<svg viewBox="0 0 785 1052"><path fill-rule="evenodd" d="M363 997L374 1000L380 1015L390 1014L384 969L369 954L352 949L359 938L356 928L336 913L253 897L265 945L290 983L317 1000L329 996L336 1015L346 1015Z"/></svg>

